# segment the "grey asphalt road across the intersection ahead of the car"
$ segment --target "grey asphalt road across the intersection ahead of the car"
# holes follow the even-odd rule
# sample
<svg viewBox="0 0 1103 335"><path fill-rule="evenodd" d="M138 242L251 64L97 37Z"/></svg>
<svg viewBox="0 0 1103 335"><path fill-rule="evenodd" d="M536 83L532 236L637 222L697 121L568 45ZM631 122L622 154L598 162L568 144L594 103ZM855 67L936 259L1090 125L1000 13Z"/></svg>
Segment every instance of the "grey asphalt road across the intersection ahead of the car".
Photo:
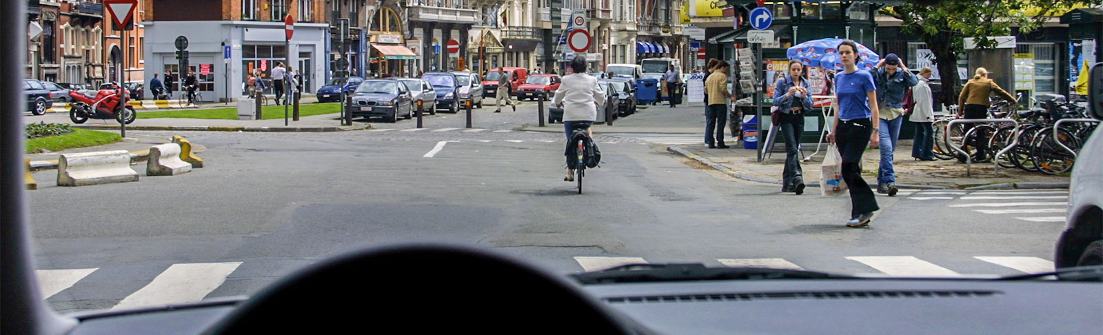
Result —
<svg viewBox="0 0 1103 335"><path fill-rule="evenodd" d="M409 241L563 273L643 261L1019 274L1045 270L1063 227L1063 191L906 191L878 196L871 227L847 228L846 197L782 194L631 137L598 137L602 166L579 195L563 181L561 133L463 130L185 132L206 168L84 187L35 173L38 267L56 270L40 271L47 301L72 312L250 294L326 256ZM1013 202L1049 204L1000 206Z"/></svg>

